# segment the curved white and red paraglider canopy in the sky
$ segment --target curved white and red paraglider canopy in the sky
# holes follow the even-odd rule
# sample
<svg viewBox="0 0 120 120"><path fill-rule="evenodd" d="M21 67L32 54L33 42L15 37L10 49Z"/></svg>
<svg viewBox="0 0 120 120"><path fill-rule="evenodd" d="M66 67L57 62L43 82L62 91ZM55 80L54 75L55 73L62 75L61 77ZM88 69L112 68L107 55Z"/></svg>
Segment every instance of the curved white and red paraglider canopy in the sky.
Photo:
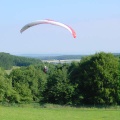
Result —
<svg viewBox="0 0 120 120"><path fill-rule="evenodd" d="M74 38L76 38L76 33L75 31L68 25L65 25L61 22L56 22L54 20L49 20L49 19L45 19L45 20L38 20L38 21L35 21L35 22L31 22L31 23L28 23L26 24L21 30L20 32L24 32L25 30L27 30L28 28L32 27L32 26L35 26L35 25L39 25L39 24L51 24L51 25L56 25L56 26L61 26L65 29L67 29Z"/></svg>

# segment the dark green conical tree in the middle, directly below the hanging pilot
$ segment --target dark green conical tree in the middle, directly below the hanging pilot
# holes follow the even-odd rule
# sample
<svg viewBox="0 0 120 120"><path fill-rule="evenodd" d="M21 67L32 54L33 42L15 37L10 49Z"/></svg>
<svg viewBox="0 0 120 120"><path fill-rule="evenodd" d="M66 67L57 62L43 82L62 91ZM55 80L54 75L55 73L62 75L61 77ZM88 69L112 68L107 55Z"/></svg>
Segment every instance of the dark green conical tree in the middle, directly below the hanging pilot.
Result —
<svg viewBox="0 0 120 120"><path fill-rule="evenodd" d="M47 86L44 91L44 101L54 104L72 104L74 87L68 79L66 65L58 65L54 72L48 77Z"/></svg>

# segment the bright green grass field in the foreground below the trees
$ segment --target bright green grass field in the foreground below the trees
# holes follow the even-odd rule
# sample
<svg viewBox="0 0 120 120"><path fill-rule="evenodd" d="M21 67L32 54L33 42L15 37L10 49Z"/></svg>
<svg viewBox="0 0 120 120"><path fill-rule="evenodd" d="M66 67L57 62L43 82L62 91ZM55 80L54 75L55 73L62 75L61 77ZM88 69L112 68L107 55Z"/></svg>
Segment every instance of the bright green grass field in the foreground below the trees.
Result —
<svg viewBox="0 0 120 120"><path fill-rule="evenodd" d="M5 107L0 106L0 120L119 120L120 108Z"/></svg>

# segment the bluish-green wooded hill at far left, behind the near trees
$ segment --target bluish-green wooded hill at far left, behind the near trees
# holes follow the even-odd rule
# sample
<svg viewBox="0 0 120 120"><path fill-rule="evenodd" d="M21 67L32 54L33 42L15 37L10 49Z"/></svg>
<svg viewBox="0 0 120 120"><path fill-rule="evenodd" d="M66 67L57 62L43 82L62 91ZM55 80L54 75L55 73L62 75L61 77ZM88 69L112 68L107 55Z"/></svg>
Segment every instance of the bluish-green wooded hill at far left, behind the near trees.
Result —
<svg viewBox="0 0 120 120"><path fill-rule="evenodd" d="M30 64L39 64L41 61L35 58L21 57L9 53L0 52L0 67L11 69L12 66L28 66Z"/></svg>

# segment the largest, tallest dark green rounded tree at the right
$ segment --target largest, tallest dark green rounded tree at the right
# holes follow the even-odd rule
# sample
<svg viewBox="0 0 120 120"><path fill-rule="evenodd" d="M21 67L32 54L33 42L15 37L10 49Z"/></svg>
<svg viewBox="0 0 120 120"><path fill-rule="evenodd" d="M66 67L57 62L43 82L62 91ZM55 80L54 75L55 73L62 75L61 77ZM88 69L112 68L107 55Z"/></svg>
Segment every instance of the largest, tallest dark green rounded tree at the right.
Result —
<svg viewBox="0 0 120 120"><path fill-rule="evenodd" d="M85 104L117 104L119 101L118 59L111 53L96 53L80 64L80 90Z"/></svg>

